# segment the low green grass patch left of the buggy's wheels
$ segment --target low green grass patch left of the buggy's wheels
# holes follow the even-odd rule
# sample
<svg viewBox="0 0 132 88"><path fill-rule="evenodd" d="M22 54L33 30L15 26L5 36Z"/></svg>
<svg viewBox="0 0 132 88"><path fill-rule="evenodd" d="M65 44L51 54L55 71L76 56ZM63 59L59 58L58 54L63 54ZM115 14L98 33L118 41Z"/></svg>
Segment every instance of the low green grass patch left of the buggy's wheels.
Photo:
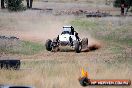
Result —
<svg viewBox="0 0 132 88"><path fill-rule="evenodd" d="M7 44L8 46L8 44ZM2 48L0 52L10 53L10 54L23 54L23 55L33 55L45 50L44 45L36 42L21 41L15 46Z"/></svg>

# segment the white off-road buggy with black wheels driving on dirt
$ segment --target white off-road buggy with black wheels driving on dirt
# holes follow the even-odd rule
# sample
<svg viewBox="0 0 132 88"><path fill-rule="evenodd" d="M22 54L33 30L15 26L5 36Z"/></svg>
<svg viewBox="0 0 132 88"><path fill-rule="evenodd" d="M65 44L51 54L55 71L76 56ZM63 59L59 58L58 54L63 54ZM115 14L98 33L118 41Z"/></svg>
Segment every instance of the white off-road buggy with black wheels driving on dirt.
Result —
<svg viewBox="0 0 132 88"><path fill-rule="evenodd" d="M59 50L59 46L70 46L76 53L80 53L82 49L87 49L88 38L80 39L72 26L64 26L62 33L53 41L48 39L45 46L48 51L54 51L56 48Z"/></svg>

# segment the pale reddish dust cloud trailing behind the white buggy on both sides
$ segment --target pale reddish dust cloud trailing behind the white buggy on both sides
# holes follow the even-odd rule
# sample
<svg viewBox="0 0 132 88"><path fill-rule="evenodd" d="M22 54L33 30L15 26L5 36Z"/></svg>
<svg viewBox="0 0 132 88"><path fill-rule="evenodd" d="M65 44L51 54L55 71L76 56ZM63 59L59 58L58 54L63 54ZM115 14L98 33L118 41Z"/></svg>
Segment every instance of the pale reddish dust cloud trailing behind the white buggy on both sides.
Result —
<svg viewBox="0 0 132 88"><path fill-rule="evenodd" d="M30 13L32 14L32 13ZM8 23L4 30L0 30L1 35L16 36L21 40L45 43L47 39L53 39L58 36L64 25L70 25L73 17L53 16L40 14L13 14L7 20ZM4 18L5 20L5 18ZM75 27L76 30L76 27ZM101 47L100 41L91 37L86 30L78 31L80 38L88 38L88 49L96 50Z"/></svg>

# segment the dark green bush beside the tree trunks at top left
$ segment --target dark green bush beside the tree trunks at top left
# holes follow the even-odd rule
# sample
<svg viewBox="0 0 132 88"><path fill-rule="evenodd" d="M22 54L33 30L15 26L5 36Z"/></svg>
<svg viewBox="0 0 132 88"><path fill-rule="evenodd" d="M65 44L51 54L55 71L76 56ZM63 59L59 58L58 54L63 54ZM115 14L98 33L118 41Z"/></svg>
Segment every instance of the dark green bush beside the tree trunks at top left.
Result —
<svg viewBox="0 0 132 88"><path fill-rule="evenodd" d="M5 0L8 10L10 11L20 11L24 10L23 0Z"/></svg>

